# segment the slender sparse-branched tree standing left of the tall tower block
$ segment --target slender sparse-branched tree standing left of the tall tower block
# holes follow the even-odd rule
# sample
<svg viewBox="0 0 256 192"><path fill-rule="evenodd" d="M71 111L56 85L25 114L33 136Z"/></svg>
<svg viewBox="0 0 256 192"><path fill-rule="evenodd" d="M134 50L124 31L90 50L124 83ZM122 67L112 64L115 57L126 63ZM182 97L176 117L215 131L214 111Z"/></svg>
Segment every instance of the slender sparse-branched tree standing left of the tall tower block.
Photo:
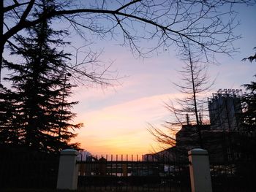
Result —
<svg viewBox="0 0 256 192"><path fill-rule="evenodd" d="M209 91L214 81L211 82L207 75L206 64L202 64L199 55L195 55L186 45L187 53L184 57L184 66L180 71L181 83L173 82L178 91L184 94L182 98L176 98L175 102L165 103L165 107L172 115L170 121L166 121L161 128L150 126L148 131L156 138L160 145L173 147L176 145L170 138L176 140L176 133L184 126L195 126L195 131L191 133L197 134L197 140L193 141L200 147L203 147L203 138L201 134L201 125L203 120L201 111L206 111L207 101L204 93ZM203 97L203 98L202 98ZM184 146L186 147L186 146Z"/></svg>

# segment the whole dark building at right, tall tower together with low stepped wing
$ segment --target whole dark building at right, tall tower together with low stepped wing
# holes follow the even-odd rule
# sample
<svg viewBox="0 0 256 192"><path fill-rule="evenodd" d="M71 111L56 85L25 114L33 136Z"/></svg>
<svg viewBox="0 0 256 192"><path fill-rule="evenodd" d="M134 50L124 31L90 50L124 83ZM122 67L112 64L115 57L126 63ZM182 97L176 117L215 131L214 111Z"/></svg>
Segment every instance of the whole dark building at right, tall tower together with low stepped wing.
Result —
<svg viewBox="0 0 256 192"><path fill-rule="evenodd" d="M239 157L239 115L242 113L241 90L219 89L208 98L208 110L211 124L200 123L203 148L208 150L210 161L232 161ZM158 153L147 154L144 161L169 157L170 161L186 161L187 152L200 147L197 125L181 126L176 133L176 146Z"/></svg>

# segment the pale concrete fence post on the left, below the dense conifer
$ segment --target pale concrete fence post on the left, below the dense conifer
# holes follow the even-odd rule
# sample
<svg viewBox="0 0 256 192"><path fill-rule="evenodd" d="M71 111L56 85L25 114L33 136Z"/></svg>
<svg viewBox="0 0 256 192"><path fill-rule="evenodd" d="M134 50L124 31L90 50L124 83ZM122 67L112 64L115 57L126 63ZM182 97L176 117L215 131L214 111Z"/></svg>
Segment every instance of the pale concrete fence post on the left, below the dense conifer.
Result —
<svg viewBox="0 0 256 192"><path fill-rule="evenodd" d="M57 189L76 190L78 188L78 151L61 150Z"/></svg>

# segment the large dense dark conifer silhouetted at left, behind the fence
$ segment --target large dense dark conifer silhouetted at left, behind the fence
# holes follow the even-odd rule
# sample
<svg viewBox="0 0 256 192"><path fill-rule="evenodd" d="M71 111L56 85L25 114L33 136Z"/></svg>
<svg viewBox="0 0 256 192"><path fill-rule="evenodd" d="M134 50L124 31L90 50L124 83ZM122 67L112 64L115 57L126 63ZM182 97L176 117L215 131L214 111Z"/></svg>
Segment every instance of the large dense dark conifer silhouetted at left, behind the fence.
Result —
<svg viewBox="0 0 256 192"><path fill-rule="evenodd" d="M63 99L70 96L72 89L66 82L65 71L69 55L56 49L65 44L59 39L64 32L53 31L45 20L29 29L29 37L18 36L18 47L11 47L12 54L21 56L24 62L4 61L4 67L12 72L5 78L12 82L12 93L7 90L0 93L0 104L6 110L2 113L8 115L7 122L1 118L5 142L14 143L18 138L18 145L46 152L78 148L77 143L69 144L76 136L70 129L74 131L81 126L70 123L75 117L70 109L78 102ZM13 138L7 137L9 134Z"/></svg>

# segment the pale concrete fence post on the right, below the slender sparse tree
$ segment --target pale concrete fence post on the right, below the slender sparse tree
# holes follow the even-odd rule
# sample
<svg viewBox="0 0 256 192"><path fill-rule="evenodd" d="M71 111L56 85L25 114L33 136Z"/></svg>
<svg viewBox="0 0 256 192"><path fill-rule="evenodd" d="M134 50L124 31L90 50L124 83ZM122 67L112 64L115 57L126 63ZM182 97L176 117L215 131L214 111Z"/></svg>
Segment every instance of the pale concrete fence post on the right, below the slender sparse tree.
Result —
<svg viewBox="0 0 256 192"><path fill-rule="evenodd" d="M192 192L212 191L207 150L189 150L189 172Z"/></svg>

